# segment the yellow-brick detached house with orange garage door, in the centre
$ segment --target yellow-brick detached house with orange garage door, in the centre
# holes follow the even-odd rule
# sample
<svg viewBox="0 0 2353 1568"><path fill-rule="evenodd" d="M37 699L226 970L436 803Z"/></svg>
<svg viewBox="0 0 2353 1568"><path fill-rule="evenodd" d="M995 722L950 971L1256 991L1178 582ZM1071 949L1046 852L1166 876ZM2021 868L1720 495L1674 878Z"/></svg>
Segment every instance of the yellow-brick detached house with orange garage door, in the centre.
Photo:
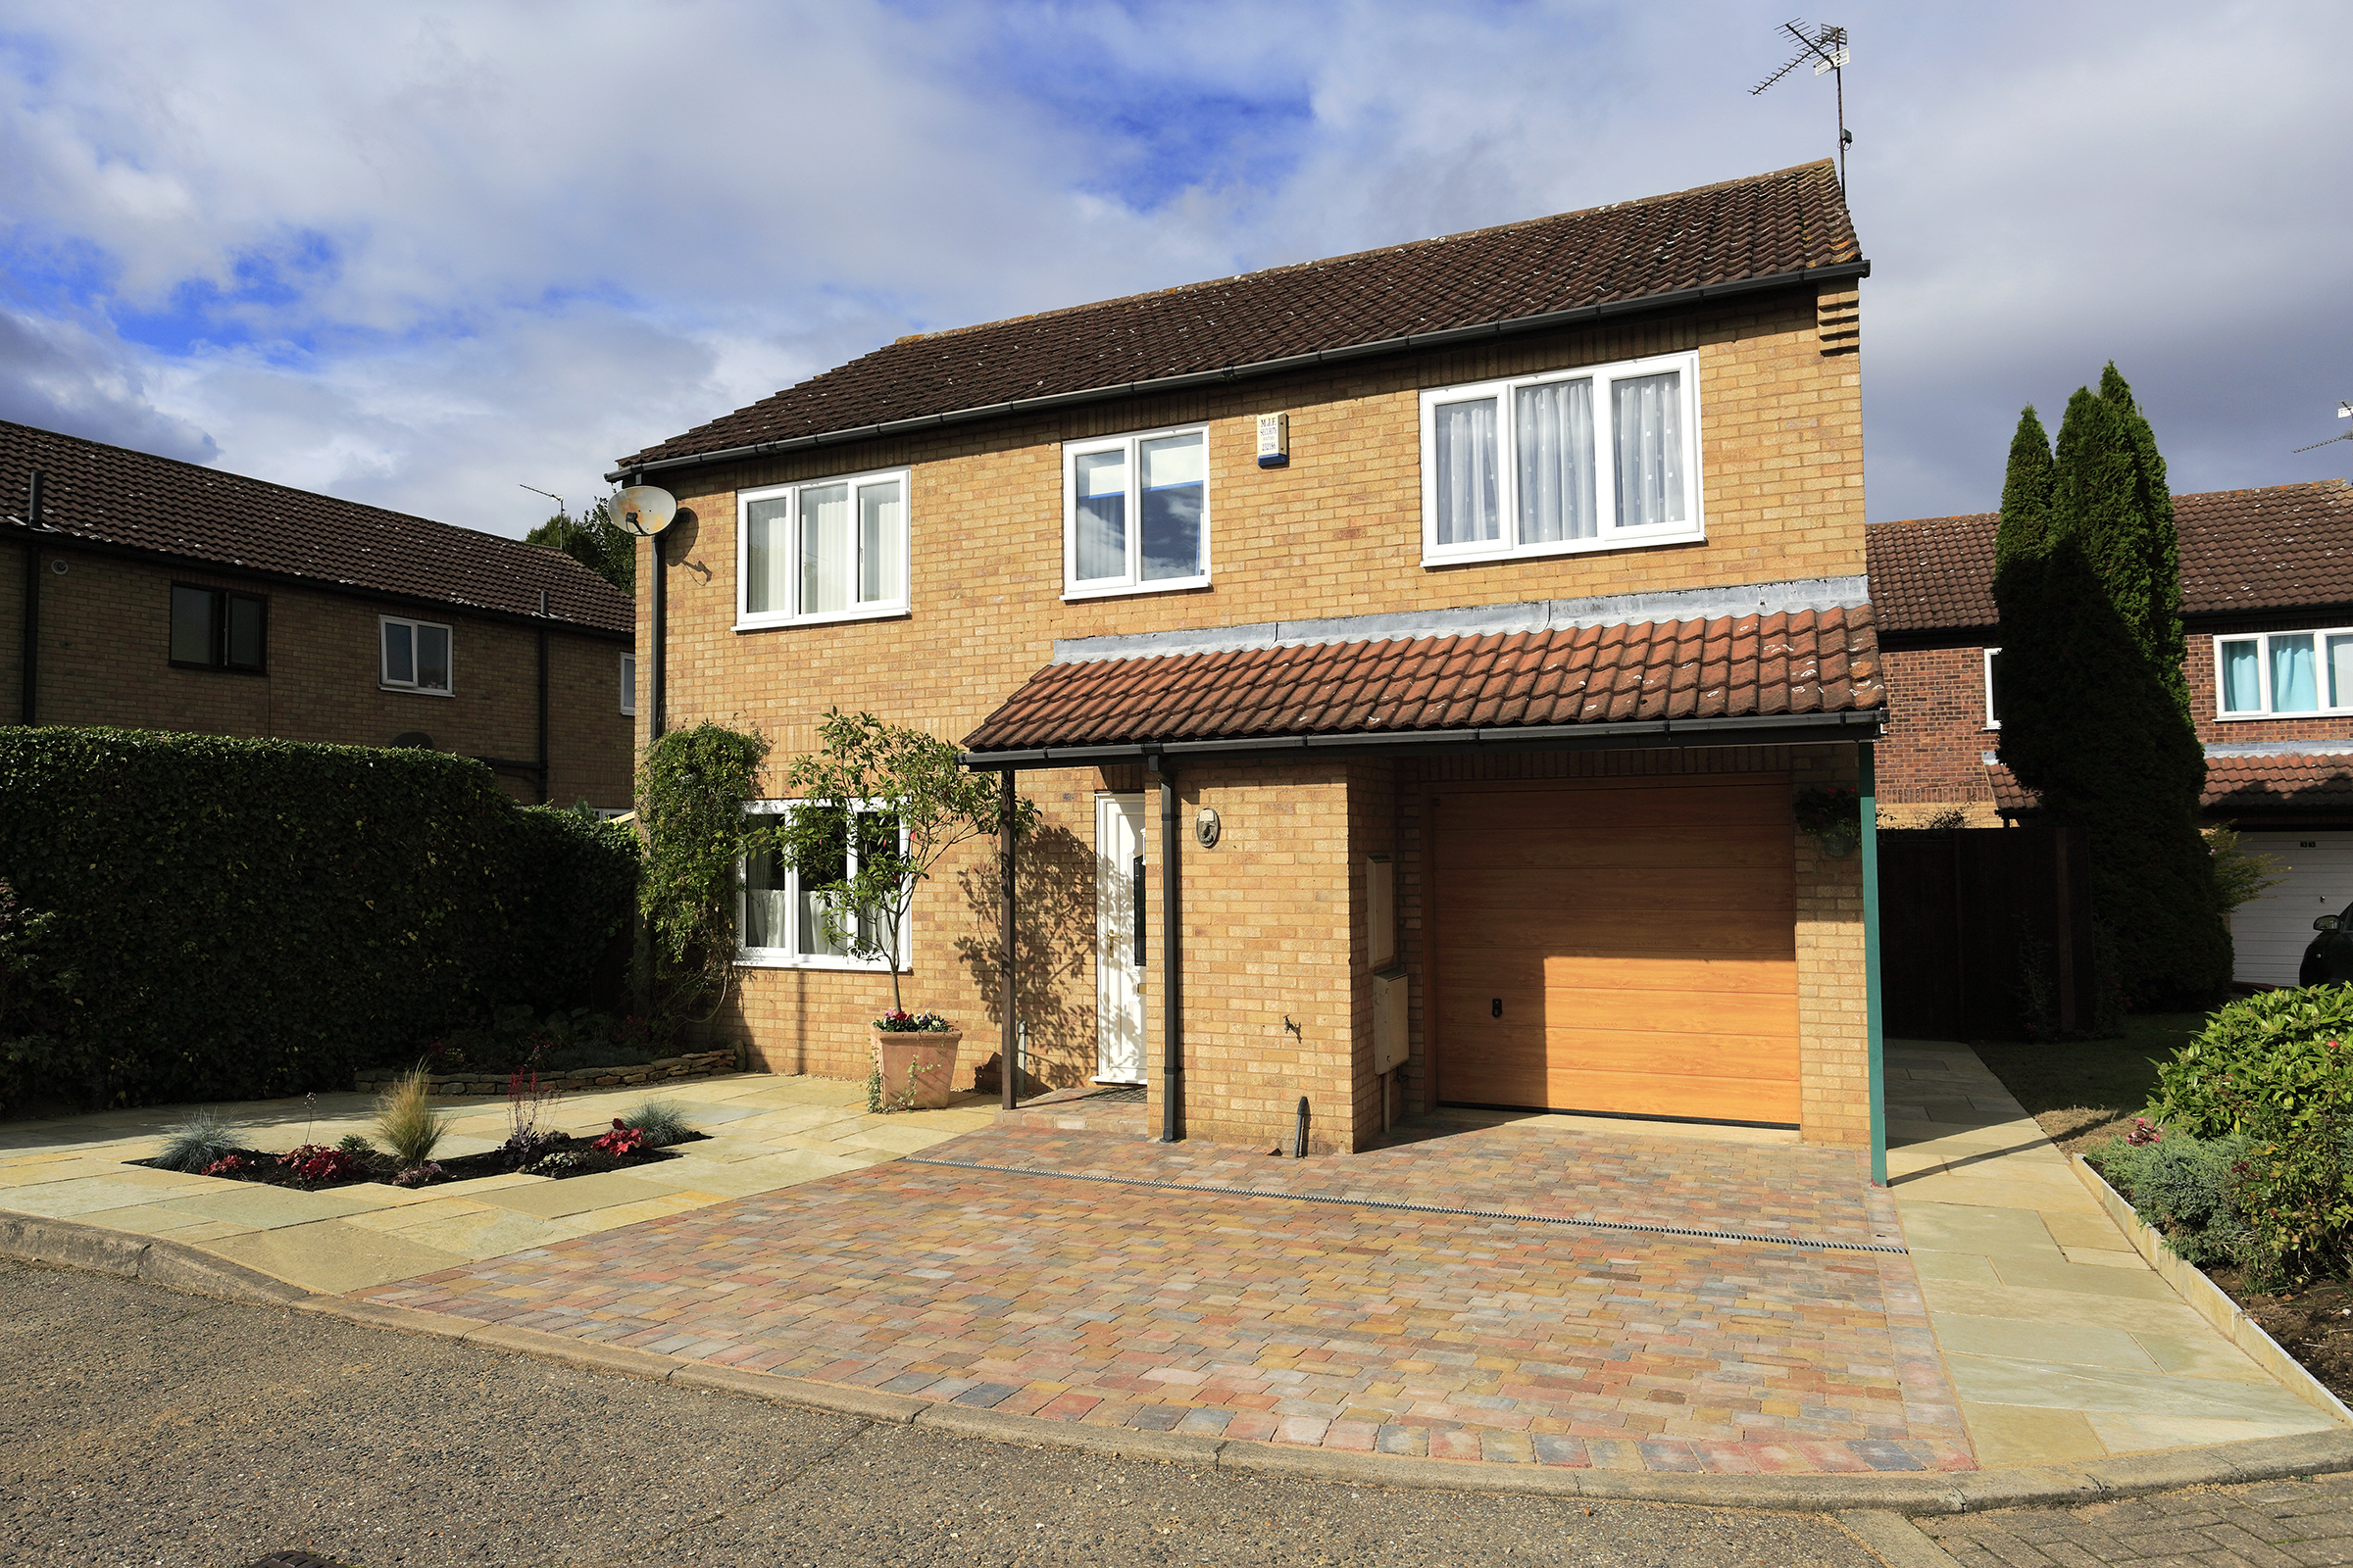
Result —
<svg viewBox="0 0 2353 1568"><path fill-rule="evenodd" d="M1882 722L1864 275L1817 162L899 339L619 458L680 503L649 708L769 792L842 708L1040 804L1009 976L988 844L899 933L1024 1093L1868 1145L1864 858L1793 825ZM889 987L812 903L746 867L713 1030L866 1077Z"/></svg>

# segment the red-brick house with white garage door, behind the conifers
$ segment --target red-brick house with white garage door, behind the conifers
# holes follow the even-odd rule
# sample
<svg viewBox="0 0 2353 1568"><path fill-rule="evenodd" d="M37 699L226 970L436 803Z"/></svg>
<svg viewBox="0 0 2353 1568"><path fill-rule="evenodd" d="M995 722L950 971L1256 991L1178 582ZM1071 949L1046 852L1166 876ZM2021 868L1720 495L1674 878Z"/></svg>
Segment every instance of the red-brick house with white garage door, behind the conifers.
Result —
<svg viewBox="0 0 2353 1568"><path fill-rule="evenodd" d="M1882 825L1984 827L2033 811L1998 757L1995 522L1868 529L1892 710ZM2353 903L2353 487L2174 496L2174 527L2205 816L2285 872L2231 917L2235 973L2294 985L2313 917Z"/></svg>

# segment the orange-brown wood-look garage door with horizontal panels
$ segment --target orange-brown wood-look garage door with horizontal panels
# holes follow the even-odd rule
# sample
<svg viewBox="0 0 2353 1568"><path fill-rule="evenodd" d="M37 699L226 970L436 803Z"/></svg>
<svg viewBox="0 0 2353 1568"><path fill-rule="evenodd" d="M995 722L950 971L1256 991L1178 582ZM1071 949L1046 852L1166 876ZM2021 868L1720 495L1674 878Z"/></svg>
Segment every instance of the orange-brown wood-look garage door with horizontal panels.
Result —
<svg viewBox="0 0 2353 1568"><path fill-rule="evenodd" d="M1798 1121L1784 776L1435 806L1438 1098Z"/></svg>

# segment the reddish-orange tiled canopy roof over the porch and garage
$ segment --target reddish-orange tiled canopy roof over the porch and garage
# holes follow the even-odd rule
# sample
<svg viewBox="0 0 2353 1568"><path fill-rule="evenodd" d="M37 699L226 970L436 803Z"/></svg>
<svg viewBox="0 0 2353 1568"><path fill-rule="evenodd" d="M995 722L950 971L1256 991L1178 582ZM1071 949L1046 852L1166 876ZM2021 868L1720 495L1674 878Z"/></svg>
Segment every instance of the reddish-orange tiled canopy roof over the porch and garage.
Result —
<svg viewBox="0 0 2353 1568"><path fill-rule="evenodd" d="M1871 609L1099 658L1038 670L972 752L1871 712Z"/></svg>

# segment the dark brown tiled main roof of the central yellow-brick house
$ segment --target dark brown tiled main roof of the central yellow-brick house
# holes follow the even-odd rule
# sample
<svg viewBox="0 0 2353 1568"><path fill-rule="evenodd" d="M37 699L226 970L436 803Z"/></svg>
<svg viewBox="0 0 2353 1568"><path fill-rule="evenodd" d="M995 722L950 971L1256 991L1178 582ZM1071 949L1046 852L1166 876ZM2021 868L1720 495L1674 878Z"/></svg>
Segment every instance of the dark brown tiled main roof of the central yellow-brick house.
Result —
<svg viewBox="0 0 2353 1568"><path fill-rule="evenodd" d="M1828 160L1466 235L899 339L619 465L1127 388L1861 256Z"/></svg>

